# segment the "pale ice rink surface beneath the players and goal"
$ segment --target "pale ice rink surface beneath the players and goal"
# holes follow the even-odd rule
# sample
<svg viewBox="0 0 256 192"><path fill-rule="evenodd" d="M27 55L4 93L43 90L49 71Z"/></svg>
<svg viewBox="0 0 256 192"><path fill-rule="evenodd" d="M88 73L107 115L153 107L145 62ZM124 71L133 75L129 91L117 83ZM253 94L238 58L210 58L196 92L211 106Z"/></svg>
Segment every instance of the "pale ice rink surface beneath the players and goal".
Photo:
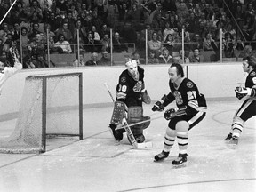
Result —
<svg viewBox="0 0 256 192"><path fill-rule="evenodd" d="M48 140L44 154L0 154L0 191L256 191L256 118L244 124L238 148L230 149L224 139L242 101L207 104L204 120L188 132L186 167L172 168L177 142L166 160L153 162L162 151L168 122L164 112L153 115L152 105L144 105L144 116L159 117L145 130L153 148L137 150L126 135L120 143L112 139L107 124L113 107L84 108L84 140ZM0 122L0 138L12 133L15 122Z"/></svg>

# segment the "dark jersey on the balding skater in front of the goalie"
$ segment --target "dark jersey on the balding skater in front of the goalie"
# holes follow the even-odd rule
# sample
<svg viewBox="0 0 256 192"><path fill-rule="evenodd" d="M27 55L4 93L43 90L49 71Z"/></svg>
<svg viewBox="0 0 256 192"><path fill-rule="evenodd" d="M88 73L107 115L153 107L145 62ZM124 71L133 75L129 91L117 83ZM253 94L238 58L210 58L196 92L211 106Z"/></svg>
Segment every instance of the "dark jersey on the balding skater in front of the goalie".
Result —
<svg viewBox="0 0 256 192"><path fill-rule="evenodd" d="M196 84L184 78L179 87L169 81L171 92L167 95L167 99L172 102L176 100L178 108L186 107L186 114L188 116L194 115L198 111L206 111L207 105L204 95L201 94Z"/></svg>

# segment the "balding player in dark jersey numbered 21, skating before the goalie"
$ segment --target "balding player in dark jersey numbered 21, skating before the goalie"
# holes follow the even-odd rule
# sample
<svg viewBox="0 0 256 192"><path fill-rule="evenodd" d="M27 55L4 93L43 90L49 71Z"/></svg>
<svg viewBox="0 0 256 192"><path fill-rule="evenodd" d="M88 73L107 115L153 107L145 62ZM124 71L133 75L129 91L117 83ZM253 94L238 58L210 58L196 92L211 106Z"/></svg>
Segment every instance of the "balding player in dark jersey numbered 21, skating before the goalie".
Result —
<svg viewBox="0 0 256 192"><path fill-rule="evenodd" d="M177 108L170 108L164 112L164 118L169 121L164 135L164 149L155 156L155 162L161 161L167 156L177 138L179 156L172 161L174 166L187 162L188 131L198 124L206 114L206 101L200 94L196 84L184 77L184 71L180 64L172 63L168 70L171 92L158 100L153 111L163 111L164 107L176 100Z"/></svg>

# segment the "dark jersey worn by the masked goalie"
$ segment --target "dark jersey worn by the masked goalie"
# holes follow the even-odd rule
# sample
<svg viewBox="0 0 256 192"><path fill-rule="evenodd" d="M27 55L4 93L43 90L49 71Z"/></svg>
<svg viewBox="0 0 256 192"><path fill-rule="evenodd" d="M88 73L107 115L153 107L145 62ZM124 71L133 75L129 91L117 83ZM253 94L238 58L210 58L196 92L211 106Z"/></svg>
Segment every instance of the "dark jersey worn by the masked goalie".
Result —
<svg viewBox="0 0 256 192"><path fill-rule="evenodd" d="M129 97L141 100L141 91L144 89L144 69L138 66L138 72L138 80L130 76L127 69L119 76L119 82L116 86L116 100L124 103Z"/></svg>

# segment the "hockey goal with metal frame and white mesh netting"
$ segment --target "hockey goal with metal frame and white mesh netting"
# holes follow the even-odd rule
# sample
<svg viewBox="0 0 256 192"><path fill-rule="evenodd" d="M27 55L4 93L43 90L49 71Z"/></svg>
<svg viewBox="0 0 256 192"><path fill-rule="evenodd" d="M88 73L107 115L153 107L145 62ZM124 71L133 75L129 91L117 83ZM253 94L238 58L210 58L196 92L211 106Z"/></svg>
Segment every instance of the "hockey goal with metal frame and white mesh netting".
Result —
<svg viewBox="0 0 256 192"><path fill-rule="evenodd" d="M82 86L82 73L28 76L15 129L0 140L0 152L42 153L52 135L83 140Z"/></svg>

